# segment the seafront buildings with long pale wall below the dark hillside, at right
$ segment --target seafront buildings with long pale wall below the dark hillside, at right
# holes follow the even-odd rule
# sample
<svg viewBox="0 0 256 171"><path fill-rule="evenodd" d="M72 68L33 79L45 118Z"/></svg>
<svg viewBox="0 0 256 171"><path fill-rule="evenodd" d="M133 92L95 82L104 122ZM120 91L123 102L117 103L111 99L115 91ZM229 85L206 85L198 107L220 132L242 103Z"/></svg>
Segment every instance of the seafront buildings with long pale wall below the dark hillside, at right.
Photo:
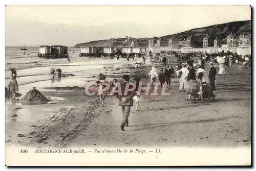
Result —
<svg viewBox="0 0 256 171"><path fill-rule="evenodd" d="M175 43L174 43L175 42ZM201 44L200 44L201 42ZM222 43L226 42L226 44ZM222 43L222 44L221 44ZM157 43L154 44L153 39L148 41L148 51L153 53L159 53L161 51L179 51L181 53L188 52L207 52L207 53L218 53L218 52L232 52L239 55L251 54L251 35L240 34L229 34L226 38L218 38L214 35L205 35L200 38L195 35L189 35L182 37L182 39L176 39L173 37L158 38Z"/></svg>

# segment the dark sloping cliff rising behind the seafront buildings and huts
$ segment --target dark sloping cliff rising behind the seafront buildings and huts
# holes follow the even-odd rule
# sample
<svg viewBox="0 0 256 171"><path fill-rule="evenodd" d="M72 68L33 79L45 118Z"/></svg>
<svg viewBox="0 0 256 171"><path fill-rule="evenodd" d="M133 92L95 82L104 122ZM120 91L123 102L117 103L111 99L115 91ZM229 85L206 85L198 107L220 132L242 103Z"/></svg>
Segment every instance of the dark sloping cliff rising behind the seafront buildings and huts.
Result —
<svg viewBox="0 0 256 171"><path fill-rule="evenodd" d="M206 35L210 35L214 38L217 38L218 45L226 44L225 38L229 34L233 34L234 36L238 36L239 34L245 34L251 36L251 20L247 21L234 21L234 22L228 22L223 23L220 25L213 25L208 26L204 28L198 28L198 29L192 29L185 32L173 34L173 35L166 35L159 37L161 40L168 41L170 37L177 37L180 41L186 39L188 36L193 36L193 47L202 47L203 44L203 38ZM137 38L139 42L139 46L146 47L148 44L148 39L150 38ZM75 47L80 46L126 46L126 40L127 38L113 38L113 39L107 39L107 40L96 40L96 41L90 41L86 43L79 43L76 44Z"/></svg>

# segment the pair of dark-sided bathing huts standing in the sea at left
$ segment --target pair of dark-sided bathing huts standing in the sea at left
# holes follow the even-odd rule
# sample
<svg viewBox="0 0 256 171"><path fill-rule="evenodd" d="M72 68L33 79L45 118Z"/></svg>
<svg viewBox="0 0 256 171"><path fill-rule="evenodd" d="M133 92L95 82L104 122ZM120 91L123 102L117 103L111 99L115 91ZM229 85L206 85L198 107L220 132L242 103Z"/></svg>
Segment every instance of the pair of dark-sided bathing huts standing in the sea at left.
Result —
<svg viewBox="0 0 256 171"><path fill-rule="evenodd" d="M39 46L39 58L68 58L68 47L63 45Z"/></svg>

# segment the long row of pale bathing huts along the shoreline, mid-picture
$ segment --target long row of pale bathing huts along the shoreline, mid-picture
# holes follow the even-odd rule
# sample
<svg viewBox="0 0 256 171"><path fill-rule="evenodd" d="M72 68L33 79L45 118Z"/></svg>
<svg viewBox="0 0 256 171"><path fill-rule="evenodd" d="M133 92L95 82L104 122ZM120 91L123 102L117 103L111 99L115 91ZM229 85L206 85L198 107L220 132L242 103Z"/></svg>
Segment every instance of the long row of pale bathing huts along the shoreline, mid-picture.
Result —
<svg viewBox="0 0 256 171"><path fill-rule="evenodd" d="M113 55L115 53L122 54L133 54L133 53L145 53L145 47L114 47L114 46L105 46L105 47L95 47L95 46L81 46L80 57L89 56L92 54L110 54Z"/></svg>

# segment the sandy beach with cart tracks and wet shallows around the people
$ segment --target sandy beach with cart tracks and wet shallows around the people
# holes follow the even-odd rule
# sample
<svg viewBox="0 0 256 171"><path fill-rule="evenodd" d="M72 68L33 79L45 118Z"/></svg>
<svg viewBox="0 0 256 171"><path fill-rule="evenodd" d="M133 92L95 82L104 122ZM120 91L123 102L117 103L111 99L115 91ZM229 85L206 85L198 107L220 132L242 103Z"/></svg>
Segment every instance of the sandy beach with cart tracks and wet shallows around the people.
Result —
<svg viewBox="0 0 256 171"><path fill-rule="evenodd" d="M176 58L170 56L169 59L169 64L175 66ZM17 79L21 94L25 95L32 86L35 86L51 101L42 105L21 105L7 100L5 138L7 145L26 145L36 148L250 147L251 145L249 69L233 66L227 69L226 75L218 75L217 100L204 103L186 100L186 92L178 91L179 79L174 78L169 96L145 96L139 111L135 111L135 106L131 108L130 126L122 132L120 131L121 108L116 97L107 96L105 104L100 105L98 97L87 96L84 93L85 83L95 82L100 72L106 75L107 81L112 81L113 78L122 81L122 75L129 74L132 78L140 77L142 82L147 83L150 81L147 75L151 67L156 66L159 72L163 68L162 62L154 63L147 59L145 67L133 69L135 62L131 61L129 63L131 67L126 67L126 59L121 59L112 64L99 65L98 69L89 71L81 69L86 68L81 60L88 59L77 60L80 62L73 60L69 64L75 66L58 64L59 67L65 68L62 69L65 74L74 75L61 80L51 80L48 70L43 71L40 76L35 76L37 72L29 76L30 73L24 71L25 69L17 71L18 76L21 76ZM97 64L108 61L90 60L94 60ZM217 65L216 67L218 70ZM49 68L49 66L40 68ZM35 67L27 69L35 69ZM206 66L205 70L204 78L207 79L209 66ZM23 77L26 81L22 81ZM13 117L14 114L17 116Z"/></svg>

